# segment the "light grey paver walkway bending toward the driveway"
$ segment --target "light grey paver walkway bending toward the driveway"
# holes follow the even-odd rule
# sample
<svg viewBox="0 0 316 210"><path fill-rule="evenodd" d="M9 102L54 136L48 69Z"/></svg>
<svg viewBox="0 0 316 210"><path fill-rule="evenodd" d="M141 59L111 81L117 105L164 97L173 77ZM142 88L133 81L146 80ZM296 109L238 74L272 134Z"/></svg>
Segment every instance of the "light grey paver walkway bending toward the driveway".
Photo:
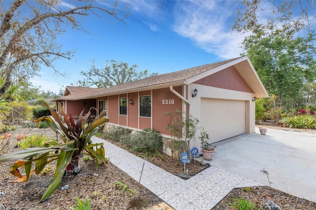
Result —
<svg viewBox="0 0 316 210"><path fill-rule="evenodd" d="M91 140L103 142L111 163L136 181L140 180L143 186L176 210L210 210L235 187L263 185L212 166L184 180L106 140L97 137Z"/></svg>

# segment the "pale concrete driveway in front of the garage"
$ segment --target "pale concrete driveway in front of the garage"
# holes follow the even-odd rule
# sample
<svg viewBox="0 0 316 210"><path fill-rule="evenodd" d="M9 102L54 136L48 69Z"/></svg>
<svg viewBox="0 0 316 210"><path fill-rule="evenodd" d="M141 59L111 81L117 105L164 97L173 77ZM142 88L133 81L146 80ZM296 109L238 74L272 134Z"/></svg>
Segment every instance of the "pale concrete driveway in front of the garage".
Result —
<svg viewBox="0 0 316 210"><path fill-rule="evenodd" d="M215 143L210 165L316 202L316 134L268 129Z"/></svg>

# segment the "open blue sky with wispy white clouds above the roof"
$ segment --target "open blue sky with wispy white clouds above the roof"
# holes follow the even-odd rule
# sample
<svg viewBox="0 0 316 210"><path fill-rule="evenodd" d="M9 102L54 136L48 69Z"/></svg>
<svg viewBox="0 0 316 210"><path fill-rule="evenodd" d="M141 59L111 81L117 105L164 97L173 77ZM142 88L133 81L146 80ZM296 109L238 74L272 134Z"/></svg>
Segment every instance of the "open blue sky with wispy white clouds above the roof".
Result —
<svg viewBox="0 0 316 210"><path fill-rule="evenodd" d="M82 19L89 34L69 30L58 37L63 49L76 51L70 61L54 63L66 77L43 67L41 76L31 82L58 93L60 85L82 80L80 71L88 70L92 60L99 68L116 60L162 74L235 58L242 52L244 35L230 31L239 1L160 0L159 5L158 0L123 0L119 5L125 3L130 11L125 24L97 12L101 17L91 14Z"/></svg>

